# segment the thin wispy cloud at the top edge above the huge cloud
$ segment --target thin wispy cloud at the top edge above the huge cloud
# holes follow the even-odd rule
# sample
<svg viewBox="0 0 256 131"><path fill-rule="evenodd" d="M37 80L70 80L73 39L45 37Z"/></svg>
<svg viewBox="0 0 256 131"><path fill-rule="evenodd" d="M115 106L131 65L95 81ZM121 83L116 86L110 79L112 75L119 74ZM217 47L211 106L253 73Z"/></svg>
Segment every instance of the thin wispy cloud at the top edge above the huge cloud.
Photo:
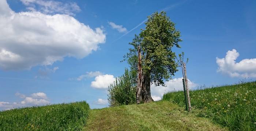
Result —
<svg viewBox="0 0 256 131"><path fill-rule="evenodd" d="M79 12L81 9L76 3L62 3L53 0L20 0L30 11L40 11L46 14L62 13L75 15L74 12ZM38 9L36 9L38 8Z"/></svg>

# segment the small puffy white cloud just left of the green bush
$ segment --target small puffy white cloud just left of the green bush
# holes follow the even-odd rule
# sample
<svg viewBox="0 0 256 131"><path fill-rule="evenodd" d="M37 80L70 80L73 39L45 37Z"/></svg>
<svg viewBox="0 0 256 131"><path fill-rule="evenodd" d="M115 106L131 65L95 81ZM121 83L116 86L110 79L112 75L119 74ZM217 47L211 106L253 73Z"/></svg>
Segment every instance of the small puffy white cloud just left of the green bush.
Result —
<svg viewBox="0 0 256 131"><path fill-rule="evenodd" d="M95 77L95 80L91 82L91 87L106 89L109 84L112 84L115 80L113 75L98 75Z"/></svg>

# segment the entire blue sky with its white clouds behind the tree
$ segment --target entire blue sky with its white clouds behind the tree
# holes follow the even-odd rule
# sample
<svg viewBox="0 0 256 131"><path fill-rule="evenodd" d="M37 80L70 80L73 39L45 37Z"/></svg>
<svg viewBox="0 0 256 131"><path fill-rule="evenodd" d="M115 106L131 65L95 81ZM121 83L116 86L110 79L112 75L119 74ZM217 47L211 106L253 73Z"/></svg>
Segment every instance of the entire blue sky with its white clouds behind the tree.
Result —
<svg viewBox="0 0 256 131"><path fill-rule="evenodd" d="M81 100L108 106L106 87L129 66L120 63L128 43L155 11L166 11L181 31L173 50L189 58L191 88L256 79L254 0L7 3L0 0L0 110ZM152 86L153 98L180 90L181 77Z"/></svg>

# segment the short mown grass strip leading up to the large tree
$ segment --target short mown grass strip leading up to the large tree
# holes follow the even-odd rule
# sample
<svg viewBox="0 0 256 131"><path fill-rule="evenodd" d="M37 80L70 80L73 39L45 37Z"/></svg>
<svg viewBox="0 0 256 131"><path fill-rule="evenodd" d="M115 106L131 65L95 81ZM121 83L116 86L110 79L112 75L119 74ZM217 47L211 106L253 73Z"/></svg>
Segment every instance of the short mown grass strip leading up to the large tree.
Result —
<svg viewBox="0 0 256 131"><path fill-rule="evenodd" d="M168 101L90 110L86 131L222 131Z"/></svg>

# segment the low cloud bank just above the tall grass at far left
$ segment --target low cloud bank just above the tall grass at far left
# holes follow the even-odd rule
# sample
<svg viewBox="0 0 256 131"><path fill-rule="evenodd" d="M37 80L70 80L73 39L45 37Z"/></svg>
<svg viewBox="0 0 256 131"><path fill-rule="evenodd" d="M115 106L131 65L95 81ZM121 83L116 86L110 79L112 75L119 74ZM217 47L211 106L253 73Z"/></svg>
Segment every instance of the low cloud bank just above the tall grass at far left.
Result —
<svg viewBox="0 0 256 131"><path fill-rule="evenodd" d="M0 102L0 110L10 110L19 107L29 107L29 106L43 106L50 104L47 95L43 92L37 92L30 95L30 97L16 93L15 96L22 98L21 102Z"/></svg>

